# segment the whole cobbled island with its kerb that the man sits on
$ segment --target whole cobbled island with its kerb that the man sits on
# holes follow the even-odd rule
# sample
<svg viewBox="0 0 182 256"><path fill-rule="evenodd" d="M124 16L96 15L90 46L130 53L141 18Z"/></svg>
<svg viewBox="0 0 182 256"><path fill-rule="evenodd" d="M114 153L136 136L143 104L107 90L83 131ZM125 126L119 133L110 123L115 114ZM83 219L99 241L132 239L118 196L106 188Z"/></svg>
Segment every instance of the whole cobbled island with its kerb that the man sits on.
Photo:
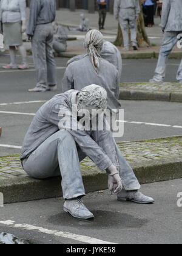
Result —
<svg viewBox="0 0 182 256"><path fill-rule="evenodd" d="M118 143L140 183L182 177L182 137ZM87 192L107 188L106 172L99 171L89 158L81 162ZM0 157L0 191L5 203L61 196L60 178L35 180L22 170L18 155Z"/></svg>

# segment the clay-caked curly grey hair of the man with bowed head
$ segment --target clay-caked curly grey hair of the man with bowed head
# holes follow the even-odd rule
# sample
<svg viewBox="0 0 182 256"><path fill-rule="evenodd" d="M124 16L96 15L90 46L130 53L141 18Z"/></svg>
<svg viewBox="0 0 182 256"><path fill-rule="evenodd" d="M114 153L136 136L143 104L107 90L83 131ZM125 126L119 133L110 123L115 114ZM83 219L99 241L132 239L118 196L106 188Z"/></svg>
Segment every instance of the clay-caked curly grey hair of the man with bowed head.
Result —
<svg viewBox="0 0 182 256"><path fill-rule="evenodd" d="M95 107L105 110L107 108L107 91L99 85L89 85L78 93L78 109Z"/></svg>

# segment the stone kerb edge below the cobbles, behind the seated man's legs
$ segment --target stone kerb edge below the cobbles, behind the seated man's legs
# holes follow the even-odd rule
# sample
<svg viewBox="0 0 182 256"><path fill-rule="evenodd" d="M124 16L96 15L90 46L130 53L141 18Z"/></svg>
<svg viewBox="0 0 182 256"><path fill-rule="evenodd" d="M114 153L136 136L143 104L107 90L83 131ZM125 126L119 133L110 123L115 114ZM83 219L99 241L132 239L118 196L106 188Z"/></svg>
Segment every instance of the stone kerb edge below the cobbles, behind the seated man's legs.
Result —
<svg viewBox="0 0 182 256"><path fill-rule="evenodd" d="M161 182L182 178L182 158L132 162L130 165L141 184ZM84 170L86 192L107 189L106 172ZM62 196L61 178L37 180L30 177L16 177L0 180L0 191L4 194L4 203L25 202Z"/></svg>

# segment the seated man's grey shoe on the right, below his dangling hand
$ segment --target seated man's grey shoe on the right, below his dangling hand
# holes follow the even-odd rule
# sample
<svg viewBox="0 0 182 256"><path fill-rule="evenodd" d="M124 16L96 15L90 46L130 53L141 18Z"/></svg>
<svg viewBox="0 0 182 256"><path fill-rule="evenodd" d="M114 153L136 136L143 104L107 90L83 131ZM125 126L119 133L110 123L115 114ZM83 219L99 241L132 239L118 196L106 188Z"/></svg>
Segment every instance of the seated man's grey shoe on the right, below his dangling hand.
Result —
<svg viewBox="0 0 182 256"><path fill-rule="evenodd" d="M136 204L153 204L155 201L152 197L144 196L141 192L122 190L117 194L118 201L130 201Z"/></svg>

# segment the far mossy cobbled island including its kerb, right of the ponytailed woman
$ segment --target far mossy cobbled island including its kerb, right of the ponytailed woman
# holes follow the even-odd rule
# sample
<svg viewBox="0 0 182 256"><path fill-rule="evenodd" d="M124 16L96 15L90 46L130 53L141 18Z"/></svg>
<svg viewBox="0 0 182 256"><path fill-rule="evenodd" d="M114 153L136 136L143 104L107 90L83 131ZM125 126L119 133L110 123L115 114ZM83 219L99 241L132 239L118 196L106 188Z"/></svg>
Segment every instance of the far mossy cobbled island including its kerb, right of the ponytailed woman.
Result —
<svg viewBox="0 0 182 256"><path fill-rule="evenodd" d="M182 102L182 84L178 83L124 83L120 99Z"/></svg>

